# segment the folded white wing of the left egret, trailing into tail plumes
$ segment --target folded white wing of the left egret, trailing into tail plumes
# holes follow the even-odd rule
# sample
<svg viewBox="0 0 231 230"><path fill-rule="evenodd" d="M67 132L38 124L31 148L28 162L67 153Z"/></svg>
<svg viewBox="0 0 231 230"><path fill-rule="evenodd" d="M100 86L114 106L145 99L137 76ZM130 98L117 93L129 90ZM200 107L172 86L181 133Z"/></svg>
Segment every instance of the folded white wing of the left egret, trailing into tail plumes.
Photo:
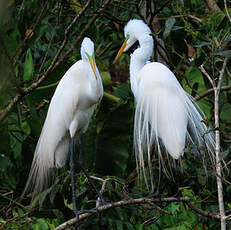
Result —
<svg viewBox="0 0 231 230"><path fill-rule="evenodd" d="M33 190L36 195L41 192L51 181L52 169L65 164L70 143L68 130L77 110L81 86L78 76L83 73L81 65L76 64L75 78L68 70L51 99L24 193Z"/></svg>

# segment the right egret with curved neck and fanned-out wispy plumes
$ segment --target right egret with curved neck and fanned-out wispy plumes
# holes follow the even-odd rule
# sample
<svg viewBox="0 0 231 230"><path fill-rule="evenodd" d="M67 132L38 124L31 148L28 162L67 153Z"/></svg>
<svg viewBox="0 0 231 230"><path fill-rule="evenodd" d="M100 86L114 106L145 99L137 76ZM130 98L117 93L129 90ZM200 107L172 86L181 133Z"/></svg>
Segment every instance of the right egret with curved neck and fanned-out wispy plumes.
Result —
<svg viewBox="0 0 231 230"><path fill-rule="evenodd" d="M179 159L184 154L186 138L198 147L205 145L214 160L214 135L207 131L202 122L203 112L165 65L149 62L153 52L149 27L142 20L133 19L125 26L124 35L125 41L115 62L123 51L127 51L137 40L139 42L139 48L131 54L130 62L131 89L137 102L134 151L138 171L144 173L145 158L151 167L151 149L154 145L159 160L163 159L163 149L173 159Z"/></svg>

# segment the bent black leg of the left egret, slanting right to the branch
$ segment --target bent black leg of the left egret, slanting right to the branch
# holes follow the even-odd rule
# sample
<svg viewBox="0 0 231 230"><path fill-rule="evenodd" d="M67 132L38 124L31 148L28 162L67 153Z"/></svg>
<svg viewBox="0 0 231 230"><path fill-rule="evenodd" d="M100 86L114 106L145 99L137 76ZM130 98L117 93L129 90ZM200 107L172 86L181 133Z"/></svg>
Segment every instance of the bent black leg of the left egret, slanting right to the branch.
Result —
<svg viewBox="0 0 231 230"><path fill-rule="evenodd" d="M90 182L91 186L96 191L98 197L100 198L101 203L105 203L102 194L97 190L95 184L93 183L92 179L90 178L90 175L89 175L88 171L84 167L84 164L83 164L83 151L84 151L84 135L82 134L81 137L80 137L79 165L80 165L81 169L83 170L84 174L86 175L86 177L87 177L88 181Z"/></svg>

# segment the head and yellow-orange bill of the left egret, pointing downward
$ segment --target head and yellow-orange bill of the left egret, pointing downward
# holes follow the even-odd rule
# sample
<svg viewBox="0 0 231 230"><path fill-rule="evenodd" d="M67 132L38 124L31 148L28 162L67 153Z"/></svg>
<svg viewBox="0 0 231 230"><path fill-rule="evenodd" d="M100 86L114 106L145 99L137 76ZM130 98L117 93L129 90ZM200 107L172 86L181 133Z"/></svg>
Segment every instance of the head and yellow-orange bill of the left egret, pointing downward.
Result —
<svg viewBox="0 0 231 230"><path fill-rule="evenodd" d="M96 68L95 68L95 56L94 56L94 43L90 38L85 37L81 44L81 57L82 60L88 61L94 72L95 78L97 79Z"/></svg>

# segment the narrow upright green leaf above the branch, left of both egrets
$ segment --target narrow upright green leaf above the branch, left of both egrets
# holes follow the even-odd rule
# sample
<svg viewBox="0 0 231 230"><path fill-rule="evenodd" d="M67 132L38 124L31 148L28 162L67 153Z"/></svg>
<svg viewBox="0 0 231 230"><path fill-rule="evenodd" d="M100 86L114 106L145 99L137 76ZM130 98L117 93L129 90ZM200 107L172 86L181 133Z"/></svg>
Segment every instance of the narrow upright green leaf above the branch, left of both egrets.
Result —
<svg viewBox="0 0 231 230"><path fill-rule="evenodd" d="M24 74L23 74L23 80L25 82L25 86L28 86L28 81L32 79L33 73L34 73L33 58L31 54L31 50L28 49L26 52L26 58L24 63Z"/></svg>

